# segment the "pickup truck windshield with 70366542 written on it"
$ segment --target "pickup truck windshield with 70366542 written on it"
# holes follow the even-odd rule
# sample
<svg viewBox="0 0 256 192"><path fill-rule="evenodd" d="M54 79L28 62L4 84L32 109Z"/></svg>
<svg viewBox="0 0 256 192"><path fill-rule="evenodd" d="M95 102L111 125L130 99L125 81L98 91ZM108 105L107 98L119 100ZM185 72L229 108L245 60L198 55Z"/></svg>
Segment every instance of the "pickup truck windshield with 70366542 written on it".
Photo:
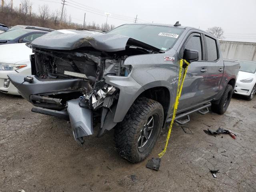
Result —
<svg viewBox="0 0 256 192"><path fill-rule="evenodd" d="M174 45L184 29L156 25L122 25L108 32L128 36L166 51Z"/></svg>

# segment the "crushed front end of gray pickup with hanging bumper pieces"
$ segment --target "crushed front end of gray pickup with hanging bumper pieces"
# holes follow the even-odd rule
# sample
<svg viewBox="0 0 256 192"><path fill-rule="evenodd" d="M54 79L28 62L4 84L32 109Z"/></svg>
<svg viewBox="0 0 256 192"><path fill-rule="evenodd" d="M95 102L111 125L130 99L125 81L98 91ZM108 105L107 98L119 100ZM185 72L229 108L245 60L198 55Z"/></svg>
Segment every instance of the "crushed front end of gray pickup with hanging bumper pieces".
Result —
<svg viewBox="0 0 256 192"><path fill-rule="evenodd" d="M74 138L81 145L84 136L93 134L97 122L98 136L116 125L113 118L120 90L107 84L106 76L127 77L132 70L132 66L124 65L128 56L154 53L138 46L138 42L129 45L129 38L124 41L124 48L111 51L100 50L104 46L97 49L95 42L91 43L94 46L80 44L71 50L31 44L32 82L24 81L21 75L9 78L20 94L36 106L32 111L69 119Z"/></svg>

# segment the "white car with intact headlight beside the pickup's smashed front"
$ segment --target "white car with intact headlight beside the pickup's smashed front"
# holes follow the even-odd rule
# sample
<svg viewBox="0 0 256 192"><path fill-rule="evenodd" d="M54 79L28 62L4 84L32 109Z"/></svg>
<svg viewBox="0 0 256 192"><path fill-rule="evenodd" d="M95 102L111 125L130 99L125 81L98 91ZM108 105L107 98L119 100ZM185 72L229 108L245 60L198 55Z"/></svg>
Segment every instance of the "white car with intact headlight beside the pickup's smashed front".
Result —
<svg viewBox="0 0 256 192"><path fill-rule="evenodd" d="M0 92L20 95L10 83L7 74L31 75L30 55L32 49L26 43L6 44L0 46Z"/></svg>

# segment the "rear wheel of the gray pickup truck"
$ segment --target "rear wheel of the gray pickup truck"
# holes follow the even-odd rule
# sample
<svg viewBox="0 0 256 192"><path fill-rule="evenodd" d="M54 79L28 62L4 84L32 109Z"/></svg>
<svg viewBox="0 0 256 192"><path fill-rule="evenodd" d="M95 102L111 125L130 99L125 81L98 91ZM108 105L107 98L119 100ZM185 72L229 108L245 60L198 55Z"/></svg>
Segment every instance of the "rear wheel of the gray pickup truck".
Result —
<svg viewBox="0 0 256 192"><path fill-rule="evenodd" d="M220 115L224 114L226 110L228 109L228 106L230 104L231 98L233 94L233 87L232 85L227 85L224 93L222 94L220 98L219 104L212 104L211 109L213 112L218 113Z"/></svg>

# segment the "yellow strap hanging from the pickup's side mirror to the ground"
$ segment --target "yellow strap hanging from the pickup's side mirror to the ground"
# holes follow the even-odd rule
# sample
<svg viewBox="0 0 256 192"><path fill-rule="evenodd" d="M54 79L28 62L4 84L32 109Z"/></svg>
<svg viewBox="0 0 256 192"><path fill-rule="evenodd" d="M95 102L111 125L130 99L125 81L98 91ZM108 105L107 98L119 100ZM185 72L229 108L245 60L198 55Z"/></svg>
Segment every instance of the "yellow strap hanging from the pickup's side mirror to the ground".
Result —
<svg viewBox="0 0 256 192"><path fill-rule="evenodd" d="M182 76L183 62L185 62L186 67L185 67L185 70L184 70L184 73L183 73L183 76ZM177 89L177 94L176 94L176 100L175 100L174 109L173 109L172 121L171 121L171 124L170 124L170 127L169 127L169 131L168 131L168 134L167 134L164 150L160 154L158 154L158 156L160 158L165 154L167 146L168 146L168 141L170 139L170 135L171 135L171 132L172 132L172 125L174 123L176 112L177 112L177 109L178 109L180 95L181 95L183 83L184 83L184 80L185 80L185 77L186 77L186 73L187 73L187 70L188 70L188 66L189 66L189 62L187 62L184 59L180 60L179 82L178 82L178 89Z"/></svg>

